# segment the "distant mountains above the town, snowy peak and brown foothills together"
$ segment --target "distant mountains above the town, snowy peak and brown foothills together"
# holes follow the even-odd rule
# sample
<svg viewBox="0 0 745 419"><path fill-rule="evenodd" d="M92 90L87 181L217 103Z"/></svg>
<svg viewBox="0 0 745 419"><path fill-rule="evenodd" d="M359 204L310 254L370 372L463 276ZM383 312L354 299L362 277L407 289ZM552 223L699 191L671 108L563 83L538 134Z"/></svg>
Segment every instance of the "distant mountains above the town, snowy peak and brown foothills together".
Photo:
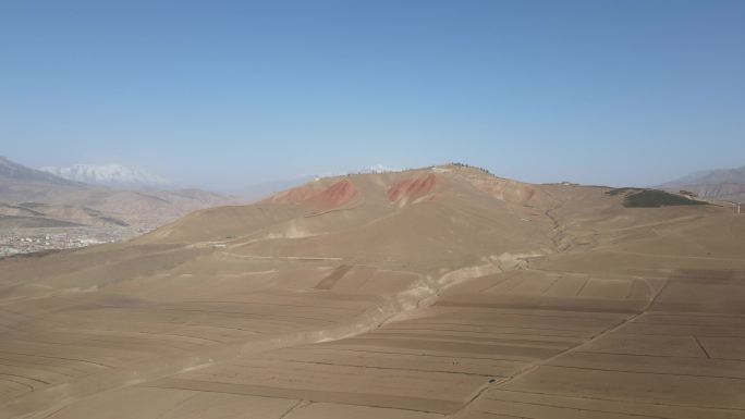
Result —
<svg viewBox="0 0 745 419"><path fill-rule="evenodd" d="M118 164L58 170L69 178L47 169L30 169L0 157L0 219L4 218L0 225L13 227L13 218L20 225L74 223L151 229L198 209L244 202L201 189L154 189L162 182L160 177ZM142 189L146 185L148 189ZM30 222L29 218L45 220Z"/></svg>

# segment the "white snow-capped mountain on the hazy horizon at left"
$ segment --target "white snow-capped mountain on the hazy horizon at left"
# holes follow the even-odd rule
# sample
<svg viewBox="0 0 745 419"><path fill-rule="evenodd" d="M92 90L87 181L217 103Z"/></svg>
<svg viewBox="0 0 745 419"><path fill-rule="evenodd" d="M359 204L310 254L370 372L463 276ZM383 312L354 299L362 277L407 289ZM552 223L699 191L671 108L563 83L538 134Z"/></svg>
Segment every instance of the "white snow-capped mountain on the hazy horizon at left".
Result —
<svg viewBox="0 0 745 419"><path fill-rule="evenodd" d="M69 168L46 167L39 170L70 181L110 187L162 187L171 183L142 169L127 168L119 163L75 164Z"/></svg>

